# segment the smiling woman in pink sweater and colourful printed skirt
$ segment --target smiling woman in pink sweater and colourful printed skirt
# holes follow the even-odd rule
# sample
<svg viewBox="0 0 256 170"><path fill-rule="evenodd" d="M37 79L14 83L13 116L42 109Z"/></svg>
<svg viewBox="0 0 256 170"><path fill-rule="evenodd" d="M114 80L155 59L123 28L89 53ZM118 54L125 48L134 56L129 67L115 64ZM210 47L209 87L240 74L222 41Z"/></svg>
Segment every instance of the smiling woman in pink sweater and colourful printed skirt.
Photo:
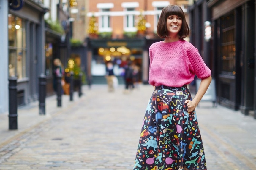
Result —
<svg viewBox="0 0 256 170"><path fill-rule="evenodd" d="M162 10L157 35L164 41L149 48L149 100L140 134L134 170L206 170L195 107L211 83L211 70L198 50L183 38L189 27L181 7ZM201 79L192 100L187 85Z"/></svg>

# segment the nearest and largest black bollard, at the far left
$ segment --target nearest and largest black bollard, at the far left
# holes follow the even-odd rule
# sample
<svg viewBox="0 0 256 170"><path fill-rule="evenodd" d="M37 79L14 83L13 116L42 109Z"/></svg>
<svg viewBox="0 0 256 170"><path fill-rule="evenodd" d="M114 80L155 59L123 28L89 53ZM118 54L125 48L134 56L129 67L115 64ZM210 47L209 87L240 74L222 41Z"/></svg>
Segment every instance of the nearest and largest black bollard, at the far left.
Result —
<svg viewBox="0 0 256 170"><path fill-rule="evenodd" d="M9 130L18 129L17 77L9 78Z"/></svg>

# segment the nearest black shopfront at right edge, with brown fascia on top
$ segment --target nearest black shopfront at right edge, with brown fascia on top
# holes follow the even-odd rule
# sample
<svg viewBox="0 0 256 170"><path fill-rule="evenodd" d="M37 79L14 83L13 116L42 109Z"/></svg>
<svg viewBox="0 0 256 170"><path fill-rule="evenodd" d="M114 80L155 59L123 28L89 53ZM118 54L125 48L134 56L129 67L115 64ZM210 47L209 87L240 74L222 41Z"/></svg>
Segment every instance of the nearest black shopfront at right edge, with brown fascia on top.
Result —
<svg viewBox="0 0 256 170"><path fill-rule="evenodd" d="M209 7L219 103L247 115L254 109L255 0L218 1Z"/></svg>

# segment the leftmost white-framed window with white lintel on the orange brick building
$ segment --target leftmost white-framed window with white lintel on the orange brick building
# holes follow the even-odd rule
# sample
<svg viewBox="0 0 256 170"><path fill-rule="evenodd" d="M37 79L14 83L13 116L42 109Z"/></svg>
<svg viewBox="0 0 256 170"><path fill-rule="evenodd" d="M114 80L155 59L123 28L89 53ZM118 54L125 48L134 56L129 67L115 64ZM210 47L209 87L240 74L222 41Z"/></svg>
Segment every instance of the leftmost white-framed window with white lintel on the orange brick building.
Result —
<svg viewBox="0 0 256 170"><path fill-rule="evenodd" d="M111 9L114 7L113 3L98 3L99 9L99 32L112 32L110 26L110 12L104 11L105 9Z"/></svg>

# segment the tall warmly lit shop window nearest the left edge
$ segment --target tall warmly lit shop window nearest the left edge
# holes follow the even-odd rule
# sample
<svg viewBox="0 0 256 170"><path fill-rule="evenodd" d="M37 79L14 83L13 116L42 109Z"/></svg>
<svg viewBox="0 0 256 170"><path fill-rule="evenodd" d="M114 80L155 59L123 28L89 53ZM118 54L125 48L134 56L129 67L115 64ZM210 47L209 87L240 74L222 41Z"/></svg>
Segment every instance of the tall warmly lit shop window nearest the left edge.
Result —
<svg viewBox="0 0 256 170"><path fill-rule="evenodd" d="M26 77L26 29L24 21L8 15L9 76Z"/></svg>

